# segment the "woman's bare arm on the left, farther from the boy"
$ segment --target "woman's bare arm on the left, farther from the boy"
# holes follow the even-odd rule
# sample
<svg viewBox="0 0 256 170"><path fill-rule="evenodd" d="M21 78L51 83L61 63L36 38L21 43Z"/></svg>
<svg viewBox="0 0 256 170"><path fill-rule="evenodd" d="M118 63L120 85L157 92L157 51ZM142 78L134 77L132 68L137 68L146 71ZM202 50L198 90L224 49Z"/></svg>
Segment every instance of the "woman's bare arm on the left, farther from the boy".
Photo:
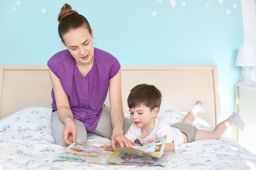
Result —
<svg viewBox="0 0 256 170"><path fill-rule="evenodd" d="M76 126L73 121L73 113L70 109L68 97L63 90L60 79L52 73L49 69L49 75L54 90L54 96L56 100L56 106L58 110L58 117L65 124L65 129L62 132L62 137L66 145L72 144L76 141ZM72 142L69 141L68 137L72 134Z"/></svg>

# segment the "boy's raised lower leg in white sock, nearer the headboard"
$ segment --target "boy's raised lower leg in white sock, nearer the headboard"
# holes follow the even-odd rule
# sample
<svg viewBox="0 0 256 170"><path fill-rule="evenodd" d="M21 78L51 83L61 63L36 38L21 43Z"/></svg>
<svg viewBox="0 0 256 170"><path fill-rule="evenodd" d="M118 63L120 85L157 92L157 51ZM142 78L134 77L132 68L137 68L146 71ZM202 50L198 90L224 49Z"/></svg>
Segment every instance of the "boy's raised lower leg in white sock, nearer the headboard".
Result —
<svg viewBox="0 0 256 170"><path fill-rule="evenodd" d="M188 124L193 124L193 121L195 120L195 117L197 116L197 114L204 113L204 108L202 105L203 104L201 101L197 101L193 106L193 108L189 111L189 113L186 114L186 116L183 119L183 122Z"/></svg>

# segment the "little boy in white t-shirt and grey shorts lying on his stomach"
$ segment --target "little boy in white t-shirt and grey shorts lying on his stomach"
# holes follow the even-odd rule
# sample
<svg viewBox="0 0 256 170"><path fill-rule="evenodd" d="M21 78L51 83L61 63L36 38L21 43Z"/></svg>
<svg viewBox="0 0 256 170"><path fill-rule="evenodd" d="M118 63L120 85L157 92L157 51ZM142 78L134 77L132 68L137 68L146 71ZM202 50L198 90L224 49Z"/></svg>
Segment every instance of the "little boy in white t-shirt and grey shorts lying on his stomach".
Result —
<svg viewBox="0 0 256 170"><path fill-rule="evenodd" d="M238 113L232 113L228 119L220 122L210 132L197 129L192 126L198 113L203 112L202 102L198 101L184 117L182 122L169 126L166 121L157 117L162 102L162 93L153 85L139 84L132 88L128 96L128 107L130 108L130 119L132 125L125 136L132 144L136 139L144 145L152 142L163 135L167 135L164 151L174 151L175 146L203 139L219 139L232 125L243 130L245 123ZM110 146L102 146L110 148Z"/></svg>

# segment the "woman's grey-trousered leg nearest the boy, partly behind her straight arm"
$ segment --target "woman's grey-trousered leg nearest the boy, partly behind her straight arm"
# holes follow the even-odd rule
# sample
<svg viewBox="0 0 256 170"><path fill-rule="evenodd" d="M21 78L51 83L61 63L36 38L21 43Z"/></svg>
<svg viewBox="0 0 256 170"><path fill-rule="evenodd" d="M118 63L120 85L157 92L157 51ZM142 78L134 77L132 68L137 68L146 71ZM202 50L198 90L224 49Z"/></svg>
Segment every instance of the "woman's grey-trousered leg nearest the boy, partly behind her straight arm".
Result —
<svg viewBox="0 0 256 170"><path fill-rule="evenodd" d="M111 118L110 118L110 108L108 106L102 107L102 114L101 118L99 119L98 126L94 130L94 133L96 133L99 136L106 137L108 139L111 139L112 136L112 124L111 124ZM132 121L128 118L124 118L124 126L123 126L123 132L124 134L128 131L128 128L132 125Z"/></svg>

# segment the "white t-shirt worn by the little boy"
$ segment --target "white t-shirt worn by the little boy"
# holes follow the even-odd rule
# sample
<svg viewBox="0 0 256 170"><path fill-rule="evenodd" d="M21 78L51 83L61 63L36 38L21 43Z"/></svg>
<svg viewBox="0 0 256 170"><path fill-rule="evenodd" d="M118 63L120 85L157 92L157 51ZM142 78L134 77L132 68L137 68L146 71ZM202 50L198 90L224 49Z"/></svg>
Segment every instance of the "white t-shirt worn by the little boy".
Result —
<svg viewBox="0 0 256 170"><path fill-rule="evenodd" d="M125 136L130 139L131 141L135 141L136 139L139 140L141 145L147 144L148 141L152 138L159 138L164 135L167 135L166 143L174 142L174 146L178 146L183 144L184 136L180 130L177 128L173 128L166 121L163 119L156 117L155 119L155 126L152 132L145 137L144 139L140 138L141 135L141 128L137 128L135 124L132 124L128 131L126 132Z"/></svg>

